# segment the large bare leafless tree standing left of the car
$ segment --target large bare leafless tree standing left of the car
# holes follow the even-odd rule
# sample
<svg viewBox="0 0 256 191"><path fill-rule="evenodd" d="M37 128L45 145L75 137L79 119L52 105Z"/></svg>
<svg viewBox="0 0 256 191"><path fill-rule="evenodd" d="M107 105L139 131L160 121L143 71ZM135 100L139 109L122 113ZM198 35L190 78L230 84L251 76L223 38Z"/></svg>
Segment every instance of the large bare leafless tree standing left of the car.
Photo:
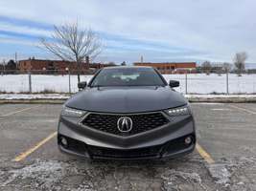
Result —
<svg viewBox="0 0 256 191"><path fill-rule="evenodd" d="M54 26L51 38L41 38L42 47L62 60L76 62L80 82L81 62L88 56L93 60L102 52L101 38L91 29L81 29L78 22Z"/></svg>

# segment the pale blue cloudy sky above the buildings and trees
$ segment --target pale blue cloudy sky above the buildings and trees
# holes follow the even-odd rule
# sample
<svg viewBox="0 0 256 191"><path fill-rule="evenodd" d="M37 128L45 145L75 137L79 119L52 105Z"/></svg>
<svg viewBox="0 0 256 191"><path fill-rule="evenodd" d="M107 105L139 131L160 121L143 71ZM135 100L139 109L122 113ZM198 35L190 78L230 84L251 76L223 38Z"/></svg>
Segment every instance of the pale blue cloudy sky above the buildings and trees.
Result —
<svg viewBox="0 0 256 191"><path fill-rule="evenodd" d="M255 0L1 0L0 58L53 58L36 48L53 25L74 22L102 36L97 61L232 61L256 63Z"/></svg>

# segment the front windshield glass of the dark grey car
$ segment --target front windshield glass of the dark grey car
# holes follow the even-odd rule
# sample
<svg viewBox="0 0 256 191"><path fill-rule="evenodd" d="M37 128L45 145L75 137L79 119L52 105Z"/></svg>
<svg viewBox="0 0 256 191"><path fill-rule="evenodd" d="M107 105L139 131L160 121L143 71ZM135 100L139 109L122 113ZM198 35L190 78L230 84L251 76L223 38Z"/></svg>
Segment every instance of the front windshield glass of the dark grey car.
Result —
<svg viewBox="0 0 256 191"><path fill-rule="evenodd" d="M165 82L151 68L104 69L93 79L95 86L164 86Z"/></svg>

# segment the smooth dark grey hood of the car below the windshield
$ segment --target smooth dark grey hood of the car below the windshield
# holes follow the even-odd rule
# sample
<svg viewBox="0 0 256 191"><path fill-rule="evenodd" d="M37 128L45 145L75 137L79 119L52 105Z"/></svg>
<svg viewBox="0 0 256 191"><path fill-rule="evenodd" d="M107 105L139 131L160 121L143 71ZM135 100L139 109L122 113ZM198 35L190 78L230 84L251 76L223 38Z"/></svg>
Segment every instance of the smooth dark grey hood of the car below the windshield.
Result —
<svg viewBox="0 0 256 191"><path fill-rule="evenodd" d="M67 100L67 107L105 113L139 113L175 108L187 100L170 87L86 88Z"/></svg>

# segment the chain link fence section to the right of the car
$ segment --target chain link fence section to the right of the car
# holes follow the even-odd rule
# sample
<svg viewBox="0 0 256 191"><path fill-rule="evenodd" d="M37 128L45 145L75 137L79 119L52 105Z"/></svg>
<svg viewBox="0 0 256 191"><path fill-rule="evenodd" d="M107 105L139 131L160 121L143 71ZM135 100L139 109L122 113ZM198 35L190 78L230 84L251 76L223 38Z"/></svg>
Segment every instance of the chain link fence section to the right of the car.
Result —
<svg viewBox="0 0 256 191"><path fill-rule="evenodd" d="M183 94L256 94L256 74L164 74L180 82Z"/></svg>

